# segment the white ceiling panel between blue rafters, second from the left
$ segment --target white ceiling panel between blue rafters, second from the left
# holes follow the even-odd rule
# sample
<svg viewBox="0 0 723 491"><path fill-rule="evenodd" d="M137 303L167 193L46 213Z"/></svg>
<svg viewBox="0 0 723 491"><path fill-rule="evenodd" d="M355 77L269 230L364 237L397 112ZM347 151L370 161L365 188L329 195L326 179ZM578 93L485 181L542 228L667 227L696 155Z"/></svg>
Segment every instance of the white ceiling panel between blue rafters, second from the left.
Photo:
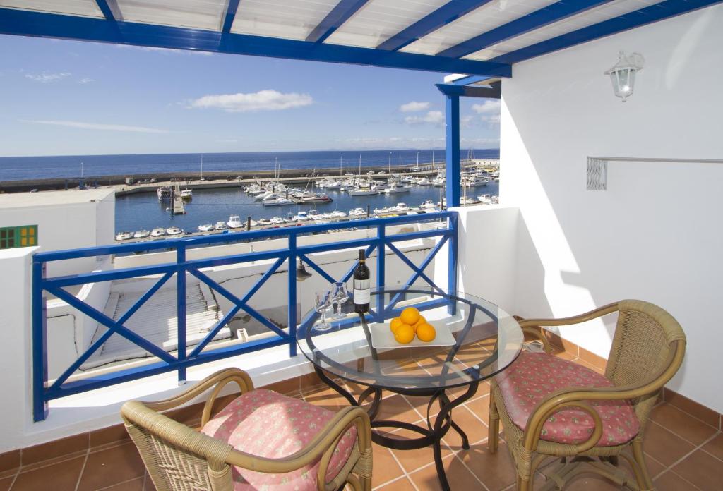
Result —
<svg viewBox="0 0 723 491"><path fill-rule="evenodd" d="M146 24L220 30L225 0L118 0L123 19Z"/></svg>

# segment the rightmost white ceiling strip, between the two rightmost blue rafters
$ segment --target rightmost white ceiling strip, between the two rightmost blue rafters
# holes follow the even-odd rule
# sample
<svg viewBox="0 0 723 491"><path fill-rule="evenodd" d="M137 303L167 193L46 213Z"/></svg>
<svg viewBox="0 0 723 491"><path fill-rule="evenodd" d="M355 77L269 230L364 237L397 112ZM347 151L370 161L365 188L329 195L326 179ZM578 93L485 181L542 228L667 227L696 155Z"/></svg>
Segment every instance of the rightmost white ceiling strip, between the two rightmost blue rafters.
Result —
<svg viewBox="0 0 723 491"><path fill-rule="evenodd" d="M520 48L525 48L526 46L555 38L559 35L567 34L568 32L597 24L598 22L612 19L613 17L619 17L620 15L628 14L656 3L658 3L656 0L612 1L609 4L604 4L596 7L595 9L581 12L573 17L562 19L550 25L540 27L534 31L527 32L526 34L519 35L516 38L489 46L489 48L477 51L476 53L471 53L469 56L465 56L465 58L482 61L489 60L495 58L495 56L510 53L511 51L516 51Z"/></svg>

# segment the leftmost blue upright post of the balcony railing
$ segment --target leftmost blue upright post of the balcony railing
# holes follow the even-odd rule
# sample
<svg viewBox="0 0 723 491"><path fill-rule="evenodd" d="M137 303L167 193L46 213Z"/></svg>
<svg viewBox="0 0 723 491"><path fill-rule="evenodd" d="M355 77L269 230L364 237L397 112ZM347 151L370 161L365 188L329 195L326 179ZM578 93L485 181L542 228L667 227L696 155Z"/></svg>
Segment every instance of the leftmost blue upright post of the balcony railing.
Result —
<svg viewBox="0 0 723 491"><path fill-rule="evenodd" d="M46 264L33 258L33 421L48 417L45 398L48 383L48 336L46 324L46 298L43 279Z"/></svg>

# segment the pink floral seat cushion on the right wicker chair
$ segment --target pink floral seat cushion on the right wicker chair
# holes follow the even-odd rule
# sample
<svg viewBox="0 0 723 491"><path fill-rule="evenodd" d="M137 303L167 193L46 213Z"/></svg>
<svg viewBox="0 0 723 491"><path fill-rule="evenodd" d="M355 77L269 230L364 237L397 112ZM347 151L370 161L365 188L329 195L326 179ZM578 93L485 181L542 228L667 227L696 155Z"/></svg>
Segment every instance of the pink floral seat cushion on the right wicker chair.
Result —
<svg viewBox="0 0 723 491"><path fill-rule="evenodd" d="M510 419L524 430L533 410L549 394L565 387L609 387L612 383L589 368L545 353L523 351L518 359L497 375ZM640 424L628 401L587 401L599 414L603 430L596 446L616 446L632 440ZM582 409L561 409L542 427L540 438L556 443L583 443L593 433L595 422Z"/></svg>

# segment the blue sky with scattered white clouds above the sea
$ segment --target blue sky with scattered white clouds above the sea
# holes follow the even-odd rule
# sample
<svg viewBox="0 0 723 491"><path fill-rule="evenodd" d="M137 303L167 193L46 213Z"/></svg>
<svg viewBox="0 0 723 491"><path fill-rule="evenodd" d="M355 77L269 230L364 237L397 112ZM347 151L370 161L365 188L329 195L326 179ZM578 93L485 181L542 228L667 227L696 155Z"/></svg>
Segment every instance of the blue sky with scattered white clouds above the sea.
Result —
<svg viewBox="0 0 723 491"><path fill-rule="evenodd" d="M0 35L0 156L442 148L442 77ZM461 113L497 147L495 102Z"/></svg>

